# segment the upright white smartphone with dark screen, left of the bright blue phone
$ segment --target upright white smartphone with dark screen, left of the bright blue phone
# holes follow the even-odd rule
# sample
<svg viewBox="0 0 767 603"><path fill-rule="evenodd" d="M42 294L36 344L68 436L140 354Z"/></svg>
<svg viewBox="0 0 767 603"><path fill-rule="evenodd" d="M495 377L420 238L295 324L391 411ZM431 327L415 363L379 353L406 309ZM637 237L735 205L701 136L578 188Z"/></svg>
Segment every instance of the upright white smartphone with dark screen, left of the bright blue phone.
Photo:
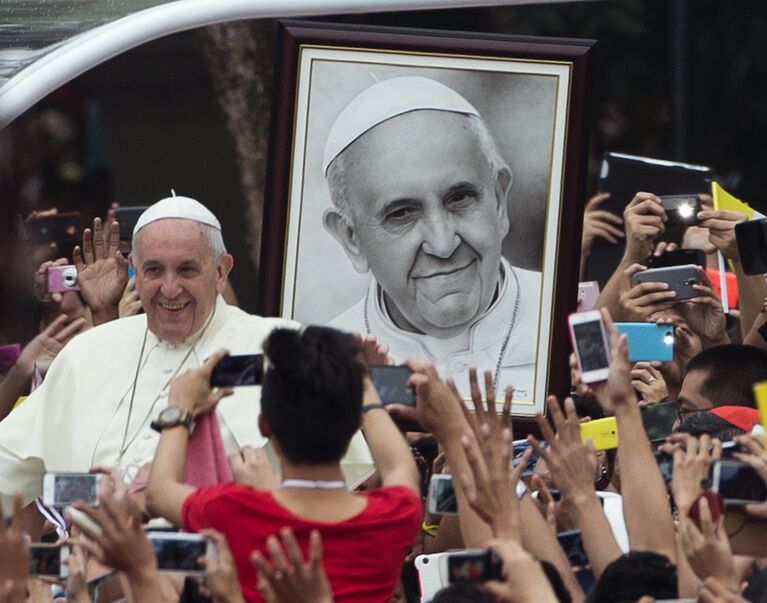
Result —
<svg viewBox="0 0 767 603"><path fill-rule="evenodd" d="M599 310L576 312L567 319L570 339L581 370L581 381L605 381L610 368L610 346L607 329Z"/></svg>

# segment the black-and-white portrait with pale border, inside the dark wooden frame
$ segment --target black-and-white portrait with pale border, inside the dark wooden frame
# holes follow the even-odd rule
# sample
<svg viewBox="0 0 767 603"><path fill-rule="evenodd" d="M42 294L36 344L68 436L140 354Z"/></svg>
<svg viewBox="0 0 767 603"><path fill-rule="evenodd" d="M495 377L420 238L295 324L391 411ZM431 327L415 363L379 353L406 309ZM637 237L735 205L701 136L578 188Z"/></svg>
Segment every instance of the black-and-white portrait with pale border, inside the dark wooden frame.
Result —
<svg viewBox="0 0 767 603"><path fill-rule="evenodd" d="M555 62L303 47L283 316L540 410L568 91Z"/></svg>

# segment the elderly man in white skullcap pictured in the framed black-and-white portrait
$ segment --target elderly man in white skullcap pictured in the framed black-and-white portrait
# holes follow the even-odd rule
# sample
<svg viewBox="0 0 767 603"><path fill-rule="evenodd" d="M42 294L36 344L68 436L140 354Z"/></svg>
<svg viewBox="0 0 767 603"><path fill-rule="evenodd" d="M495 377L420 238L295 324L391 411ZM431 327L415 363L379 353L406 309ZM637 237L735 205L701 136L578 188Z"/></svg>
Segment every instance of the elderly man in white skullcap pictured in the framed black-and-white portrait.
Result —
<svg viewBox="0 0 767 603"><path fill-rule="evenodd" d="M424 77L374 84L341 112L323 162L325 228L367 295L332 325L372 333L468 383L490 370L533 394L540 273L501 255L512 173L477 110Z"/></svg>

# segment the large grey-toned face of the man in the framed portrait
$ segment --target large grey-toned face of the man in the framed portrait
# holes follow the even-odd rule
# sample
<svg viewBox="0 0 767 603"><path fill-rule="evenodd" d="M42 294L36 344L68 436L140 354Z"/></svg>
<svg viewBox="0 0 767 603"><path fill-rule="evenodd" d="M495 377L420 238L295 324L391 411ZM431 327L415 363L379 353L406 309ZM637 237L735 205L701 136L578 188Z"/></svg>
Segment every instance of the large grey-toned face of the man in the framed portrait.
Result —
<svg viewBox="0 0 767 603"><path fill-rule="evenodd" d="M468 118L448 112L390 119L347 152L355 267L372 270L401 328L461 332L496 291L510 174L494 174Z"/></svg>

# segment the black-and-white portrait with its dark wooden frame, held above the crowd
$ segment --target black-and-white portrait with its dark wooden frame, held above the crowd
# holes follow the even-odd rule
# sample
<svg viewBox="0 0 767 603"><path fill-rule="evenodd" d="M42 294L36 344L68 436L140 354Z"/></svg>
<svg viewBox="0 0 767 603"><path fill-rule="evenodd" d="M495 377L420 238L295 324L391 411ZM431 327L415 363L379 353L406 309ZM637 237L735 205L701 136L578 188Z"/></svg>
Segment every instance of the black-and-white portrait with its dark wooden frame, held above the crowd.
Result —
<svg viewBox="0 0 767 603"><path fill-rule="evenodd" d="M567 394L593 42L280 24L260 309Z"/></svg>

